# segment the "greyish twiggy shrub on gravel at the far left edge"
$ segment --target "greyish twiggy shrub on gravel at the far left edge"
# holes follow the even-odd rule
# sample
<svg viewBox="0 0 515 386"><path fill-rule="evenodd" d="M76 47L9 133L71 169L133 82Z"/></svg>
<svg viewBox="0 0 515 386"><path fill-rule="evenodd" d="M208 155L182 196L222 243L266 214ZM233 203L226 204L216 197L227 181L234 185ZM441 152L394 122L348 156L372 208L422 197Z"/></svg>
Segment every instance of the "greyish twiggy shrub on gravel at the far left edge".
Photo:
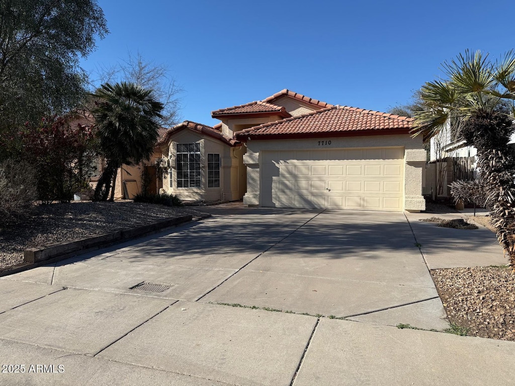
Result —
<svg viewBox="0 0 515 386"><path fill-rule="evenodd" d="M28 162L0 163L0 226L25 217L37 198L35 170Z"/></svg>

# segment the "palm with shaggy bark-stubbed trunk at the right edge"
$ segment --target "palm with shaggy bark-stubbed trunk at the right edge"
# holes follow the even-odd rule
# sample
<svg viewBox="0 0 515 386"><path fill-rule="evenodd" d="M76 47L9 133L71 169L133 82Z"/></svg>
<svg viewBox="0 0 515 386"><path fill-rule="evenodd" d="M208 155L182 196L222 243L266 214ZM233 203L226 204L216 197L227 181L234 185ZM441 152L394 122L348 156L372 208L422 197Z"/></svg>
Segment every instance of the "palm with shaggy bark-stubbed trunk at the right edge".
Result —
<svg viewBox="0 0 515 386"><path fill-rule="evenodd" d="M453 141L477 149L481 183L493 204L491 223L515 272L515 52L492 62L488 54L466 51L443 64L447 79L427 82L421 97L428 109L415 114L414 135L431 138L449 130ZM455 199L467 198L455 189ZM458 197L456 197L458 196Z"/></svg>

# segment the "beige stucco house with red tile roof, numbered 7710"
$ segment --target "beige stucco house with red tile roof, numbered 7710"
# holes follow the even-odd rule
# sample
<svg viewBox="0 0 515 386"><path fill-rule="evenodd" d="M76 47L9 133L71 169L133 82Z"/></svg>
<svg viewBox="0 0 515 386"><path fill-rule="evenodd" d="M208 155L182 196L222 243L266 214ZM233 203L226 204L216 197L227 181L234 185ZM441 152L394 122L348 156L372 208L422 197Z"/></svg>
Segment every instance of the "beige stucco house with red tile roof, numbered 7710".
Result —
<svg viewBox="0 0 515 386"><path fill-rule="evenodd" d="M162 190L261 207L425 209L426 152L410 118L289 90L211 115L221 122L184 121L163 135Z"/></svg>

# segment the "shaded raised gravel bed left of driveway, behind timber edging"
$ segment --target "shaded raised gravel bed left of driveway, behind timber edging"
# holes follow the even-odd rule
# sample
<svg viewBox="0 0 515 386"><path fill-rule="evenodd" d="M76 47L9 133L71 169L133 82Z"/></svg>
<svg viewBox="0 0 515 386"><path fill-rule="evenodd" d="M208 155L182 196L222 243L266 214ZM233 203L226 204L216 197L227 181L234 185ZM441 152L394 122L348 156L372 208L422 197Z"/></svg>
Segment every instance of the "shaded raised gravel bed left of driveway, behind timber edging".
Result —
<svg viewBox="0 0 515 386"><path fill-rule="evenodd" d="M27 248L185 215L201 217L205 213L193 207L132 201L38 205L18 224L0 229L0 270L21 264L23 251Z"/></svg>

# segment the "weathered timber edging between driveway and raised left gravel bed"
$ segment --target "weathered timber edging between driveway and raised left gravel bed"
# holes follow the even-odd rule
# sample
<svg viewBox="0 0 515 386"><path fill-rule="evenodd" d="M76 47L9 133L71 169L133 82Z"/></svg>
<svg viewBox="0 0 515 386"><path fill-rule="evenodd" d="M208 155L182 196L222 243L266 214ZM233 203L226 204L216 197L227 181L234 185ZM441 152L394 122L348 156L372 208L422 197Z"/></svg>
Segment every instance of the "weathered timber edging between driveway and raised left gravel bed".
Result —
<svg viewBox="0 0 515 386"><path fill-rule="evenodd" d="M196 219L203 220L208 217L211 217L211 215L209 214ZM176 227L187 222L191 222L192 220L192 215L180 216L136 226L134 228L119 229L100 235L83 237L73 241L57 242L46 245L43 248L29 248L23 253L24 263L22 265L0 271L0 277L64 260L82 253L98 250L100 248L110 247L111 245L119 244L131 239L159 233L167 228Z"/></svg>

